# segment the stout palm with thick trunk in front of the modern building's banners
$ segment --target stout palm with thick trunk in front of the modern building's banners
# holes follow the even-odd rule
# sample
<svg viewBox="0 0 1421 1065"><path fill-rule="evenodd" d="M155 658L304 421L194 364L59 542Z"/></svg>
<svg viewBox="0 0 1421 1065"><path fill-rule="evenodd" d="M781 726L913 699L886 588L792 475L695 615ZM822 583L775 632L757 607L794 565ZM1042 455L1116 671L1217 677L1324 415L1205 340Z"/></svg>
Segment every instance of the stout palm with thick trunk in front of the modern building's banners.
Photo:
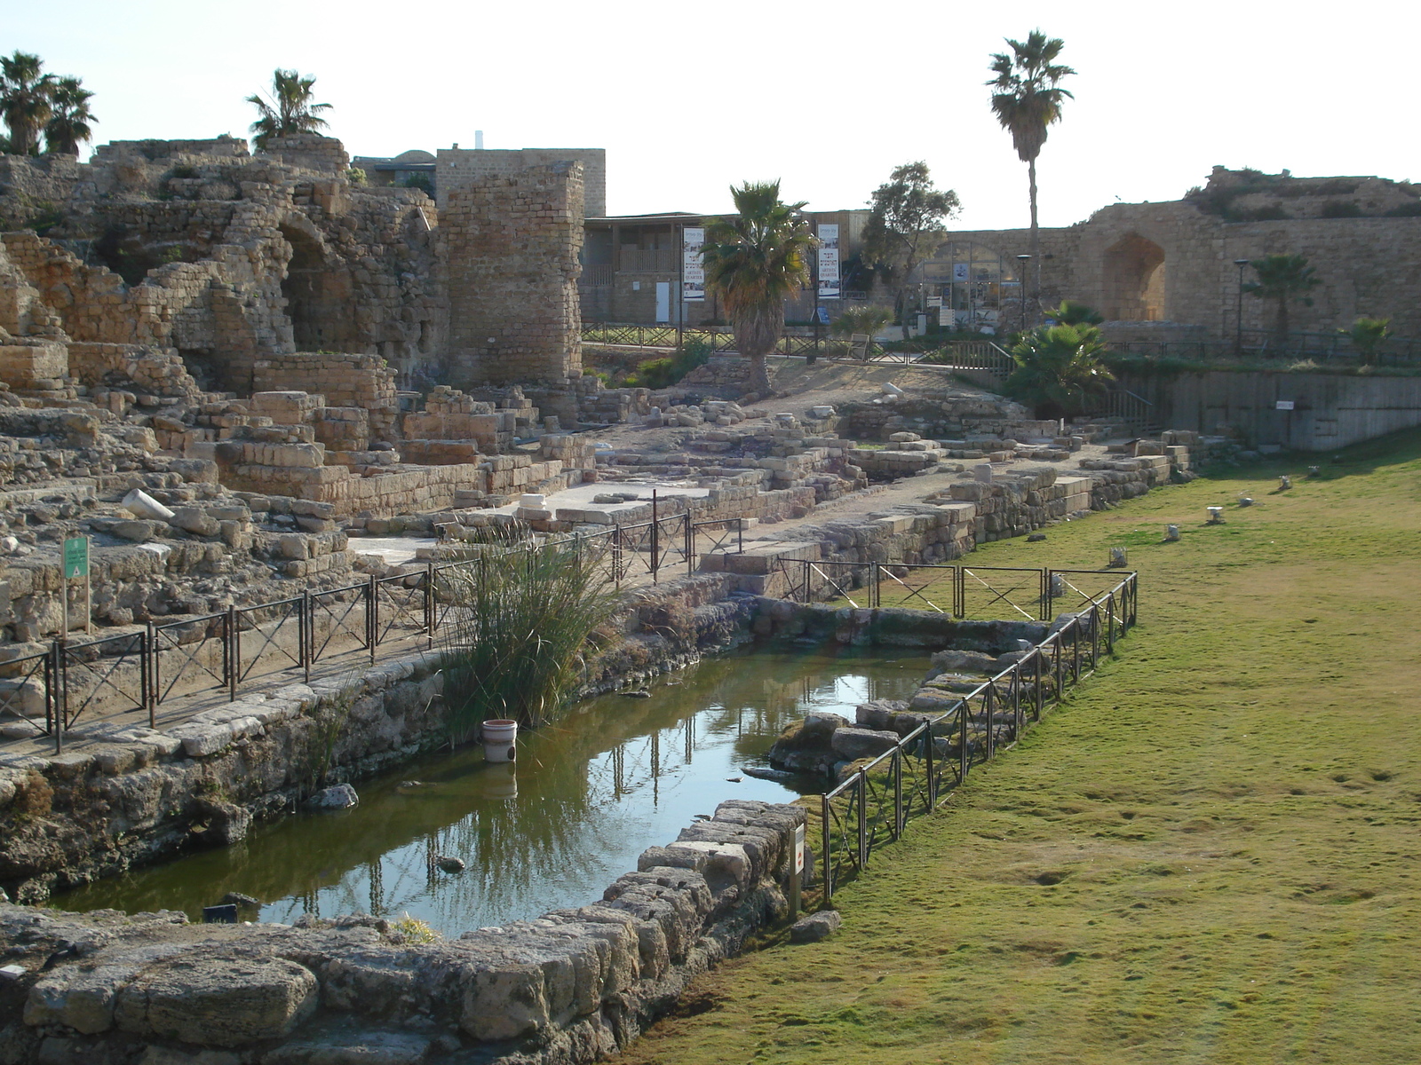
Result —
<svg viewBox="0 0 1421 1065"><path fill-rule="evenodd" d="M780 203L780 183L730 186L736 217L706 226L706 288L720 297L736 351L750 361L750 390L770 392L764 356L784 329L784 300L809 281L814 237L803 203Z"/></svg>

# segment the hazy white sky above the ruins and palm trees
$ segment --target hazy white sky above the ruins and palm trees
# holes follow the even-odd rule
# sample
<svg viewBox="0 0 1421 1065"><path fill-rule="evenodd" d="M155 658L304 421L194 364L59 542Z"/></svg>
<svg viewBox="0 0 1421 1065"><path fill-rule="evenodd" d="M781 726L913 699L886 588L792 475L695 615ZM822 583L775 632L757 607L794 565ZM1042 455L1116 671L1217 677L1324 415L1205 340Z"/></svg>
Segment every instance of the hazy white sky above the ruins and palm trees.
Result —
<svg viewBox="0 0 1421 1065"><path fill-rule="evenodd" d="M726 210L726 186L860 207L925 159L959 227L1026 224L988 57L1040 27L1076 94L1039 160L1042 223L1177 199L1214 163L1421 178L1415 4L1196 0L719 4L0 0L0 53L97 92L95 141L244 135L274 67L317 77L352 155L605 148L608 210Z"/></svg>

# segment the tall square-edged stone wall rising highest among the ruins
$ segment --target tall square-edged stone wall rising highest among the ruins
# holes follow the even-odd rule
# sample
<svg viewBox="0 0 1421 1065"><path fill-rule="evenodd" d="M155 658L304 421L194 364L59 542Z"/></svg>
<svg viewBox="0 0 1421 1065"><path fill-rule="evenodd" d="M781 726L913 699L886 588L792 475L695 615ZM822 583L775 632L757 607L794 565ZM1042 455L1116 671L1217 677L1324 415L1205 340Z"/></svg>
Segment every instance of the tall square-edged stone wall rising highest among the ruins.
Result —
<svg viewBox="0 0 1421 1065"><path fill-rule="evenodd" d="M441 214L448 379L566 382L583 372L583 173L554 163L455 189Z"/></svg>

